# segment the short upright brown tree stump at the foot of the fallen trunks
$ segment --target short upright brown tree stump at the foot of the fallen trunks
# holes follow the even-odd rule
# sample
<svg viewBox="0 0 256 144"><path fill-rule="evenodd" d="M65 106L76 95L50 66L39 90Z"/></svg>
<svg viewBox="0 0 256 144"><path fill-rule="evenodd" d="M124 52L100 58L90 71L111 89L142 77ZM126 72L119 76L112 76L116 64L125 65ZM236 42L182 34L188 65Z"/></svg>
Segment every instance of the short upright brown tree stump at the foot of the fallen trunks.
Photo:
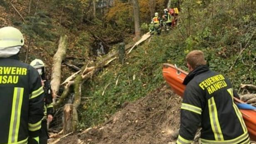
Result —
<svg viewBox="0 0 256 144"><path fill-rule="evenodd" d="M64 123L63 123L63 133L68 134L73 132L73 105L66 104L64 106Z"/></svg>

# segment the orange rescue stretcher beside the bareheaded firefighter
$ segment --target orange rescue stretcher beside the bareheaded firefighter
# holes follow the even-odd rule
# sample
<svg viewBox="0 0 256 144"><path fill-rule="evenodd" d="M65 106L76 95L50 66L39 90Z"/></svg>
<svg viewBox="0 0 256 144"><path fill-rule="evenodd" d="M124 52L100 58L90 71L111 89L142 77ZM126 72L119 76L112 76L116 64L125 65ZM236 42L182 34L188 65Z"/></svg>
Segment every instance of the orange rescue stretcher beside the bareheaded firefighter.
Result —
<svg viewBox="0 0 256 144"><path fill-rule="evenodd" d="M170 85L172 90L177 93L177 95L183 97L183 92L186 86L182 83L188 73L180 68L177 68L176 65L164 63L162 68L162 74L165 78L165 81ZM235 103L244 103L238 98L234 98L234 101ZM240 111L243 115L243 119L248 129L250 138L256 141L256 110L240 109Z"/></svg>

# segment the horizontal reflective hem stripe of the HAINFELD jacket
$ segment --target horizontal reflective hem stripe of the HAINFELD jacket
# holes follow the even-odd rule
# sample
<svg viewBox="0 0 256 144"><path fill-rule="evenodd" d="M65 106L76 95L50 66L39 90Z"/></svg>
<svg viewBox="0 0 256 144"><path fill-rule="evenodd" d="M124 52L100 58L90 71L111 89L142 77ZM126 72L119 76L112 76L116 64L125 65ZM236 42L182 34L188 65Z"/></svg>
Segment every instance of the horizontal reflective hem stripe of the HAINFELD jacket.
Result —
<svg viewBox="0 0 256 144"><path fill-rule="evenodd" d="M202 144L240 144L240 142L249 138L248 133L241 134L241 136L236 137L235 139L229 139L224 141L214 141L207 139L200 139Z"/></svg>

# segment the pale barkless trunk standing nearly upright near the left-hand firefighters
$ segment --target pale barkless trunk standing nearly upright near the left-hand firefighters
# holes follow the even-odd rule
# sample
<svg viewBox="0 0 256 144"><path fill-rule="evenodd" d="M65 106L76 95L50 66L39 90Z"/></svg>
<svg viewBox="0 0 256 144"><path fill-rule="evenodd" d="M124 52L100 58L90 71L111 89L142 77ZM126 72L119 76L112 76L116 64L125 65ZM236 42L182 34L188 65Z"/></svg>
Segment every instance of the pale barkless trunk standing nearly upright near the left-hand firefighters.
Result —
<svg viewBox="0 0 256 144"><path fill-rule="evenodd" d="M53 66L52 66L52 78L51 87L53 94L53 103L56 102L56 96L59 92L59 85L61 81L61 65L62 60L66 55L67 38L66 35L62 35L59 39L59 46L57 52L53 56Z"/></svg>

